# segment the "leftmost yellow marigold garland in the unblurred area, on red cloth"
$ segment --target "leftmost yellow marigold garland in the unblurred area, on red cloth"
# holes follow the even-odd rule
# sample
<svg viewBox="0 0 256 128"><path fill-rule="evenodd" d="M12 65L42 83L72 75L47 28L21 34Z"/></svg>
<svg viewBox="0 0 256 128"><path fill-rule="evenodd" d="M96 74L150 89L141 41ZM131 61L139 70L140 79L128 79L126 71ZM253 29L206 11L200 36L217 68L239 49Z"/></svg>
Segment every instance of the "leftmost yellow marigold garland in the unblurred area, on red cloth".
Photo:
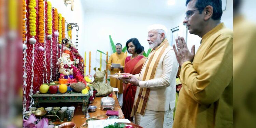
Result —
<svg viewBox="0 0 256 128"><path fill-rule="evenodd" d="M29 8L29 34L31 36L35 36L36 32L36 25L35 25L35 20L37 15L35 14L36 10L35 10L35 6L36 6L36 2L35 0L29 0L29 4L28 4L28 8Z"/></svg>

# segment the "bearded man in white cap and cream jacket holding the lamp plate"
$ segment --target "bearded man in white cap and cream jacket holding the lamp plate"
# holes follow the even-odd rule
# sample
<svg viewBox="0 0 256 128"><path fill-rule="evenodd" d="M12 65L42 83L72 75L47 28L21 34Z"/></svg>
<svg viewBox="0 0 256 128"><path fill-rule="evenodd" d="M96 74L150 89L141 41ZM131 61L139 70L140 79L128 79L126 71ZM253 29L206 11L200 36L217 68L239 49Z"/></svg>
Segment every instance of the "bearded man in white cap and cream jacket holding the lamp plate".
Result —
<svg viewBox="0 0 256 128"><path fill-rule="evenodd" d="M175 78L179 64L166 39L166 31L162 25L148 28L147 41L152 52L141 73L126 80L138 86L131 116L135 116L135 124L145 128L171 128L173 123Z"/></svg>

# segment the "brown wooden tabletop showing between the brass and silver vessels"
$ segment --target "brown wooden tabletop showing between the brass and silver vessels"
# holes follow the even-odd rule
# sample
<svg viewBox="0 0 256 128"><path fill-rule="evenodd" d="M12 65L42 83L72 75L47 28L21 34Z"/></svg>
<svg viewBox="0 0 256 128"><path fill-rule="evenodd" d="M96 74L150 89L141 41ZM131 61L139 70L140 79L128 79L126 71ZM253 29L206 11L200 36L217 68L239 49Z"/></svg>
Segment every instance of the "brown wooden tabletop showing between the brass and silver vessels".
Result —
<svg viewBox="0 0 256 128"><path fill-rule="evenodd" d="M118 116L123 115L123 111L120 108L119 102L116 98L116 95L115 95L114 91L112 93L112 97L115 100L114 110L118 111ZM89 105L97 106L97 109L96 109L95 112L89 112L89 115L90 115L89 118L96 118L98 115L105 115L107 110L111 110L111 109L104 109L104 110L101 109L101 105L100 105L101 98L102 97L96 97L94 99L94 103L89 104ZM120 118L125 118L125 117L123 115ZM72 118L72 120L70 122L75 123L76 127L80 128L80 126L86 122L86 119L88 119L88 118L85 118L85 115L82 113L80 106L78 106L77 108L75 108L74 117ZM64 122L59 122L59 120L57 120L56 122L54 122L54 124L55 125L60 125L60 124L65 123L65 122L67 122L66 118L64 119Z"/></svg>

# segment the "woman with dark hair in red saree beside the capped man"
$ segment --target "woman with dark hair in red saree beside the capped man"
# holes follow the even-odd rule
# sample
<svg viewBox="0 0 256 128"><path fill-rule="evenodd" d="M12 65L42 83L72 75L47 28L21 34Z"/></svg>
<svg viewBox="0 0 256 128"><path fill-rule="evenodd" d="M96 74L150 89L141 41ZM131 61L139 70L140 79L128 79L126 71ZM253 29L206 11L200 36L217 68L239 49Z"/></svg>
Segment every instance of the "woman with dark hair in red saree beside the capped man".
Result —
<svg viewBox="0 0 256 128"><path fill-rule="evenodd" d="M142 46L138 39L132 38L126 42L126 47L128 53L132 56L128 56L125 59L125 69L124 73L138 74L146 61L146 57L141 56ZM123 82L123 113L126 119L132 121L133 117L130 117L132 105L134 102L134 97L136 93L137 86L133 86L130 83Z"/></svg>

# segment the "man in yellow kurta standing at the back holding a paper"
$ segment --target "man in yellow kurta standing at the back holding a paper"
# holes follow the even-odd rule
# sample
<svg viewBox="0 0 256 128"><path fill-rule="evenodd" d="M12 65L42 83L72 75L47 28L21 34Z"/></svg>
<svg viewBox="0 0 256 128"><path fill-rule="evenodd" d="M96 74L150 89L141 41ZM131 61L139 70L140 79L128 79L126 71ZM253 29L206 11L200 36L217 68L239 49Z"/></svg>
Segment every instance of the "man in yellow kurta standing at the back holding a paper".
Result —
<svg viewBox="0 0 256 128"><path fill-rule="evenodd" d="M117 43L116 44L116 52L113 53L108 61L108 68L110 70L110 74L115 74L118 73L119 71L121 73L124 72L125 68L125 58L127 55L122 52L122 44ZM120 63L121 67L120 68L114 68L112 67L112 63ZM112 87L118 88L118 102L120 106L123 105L123 81L122 80L117 80L115 78L110 78L110 85Z"/></svg>

